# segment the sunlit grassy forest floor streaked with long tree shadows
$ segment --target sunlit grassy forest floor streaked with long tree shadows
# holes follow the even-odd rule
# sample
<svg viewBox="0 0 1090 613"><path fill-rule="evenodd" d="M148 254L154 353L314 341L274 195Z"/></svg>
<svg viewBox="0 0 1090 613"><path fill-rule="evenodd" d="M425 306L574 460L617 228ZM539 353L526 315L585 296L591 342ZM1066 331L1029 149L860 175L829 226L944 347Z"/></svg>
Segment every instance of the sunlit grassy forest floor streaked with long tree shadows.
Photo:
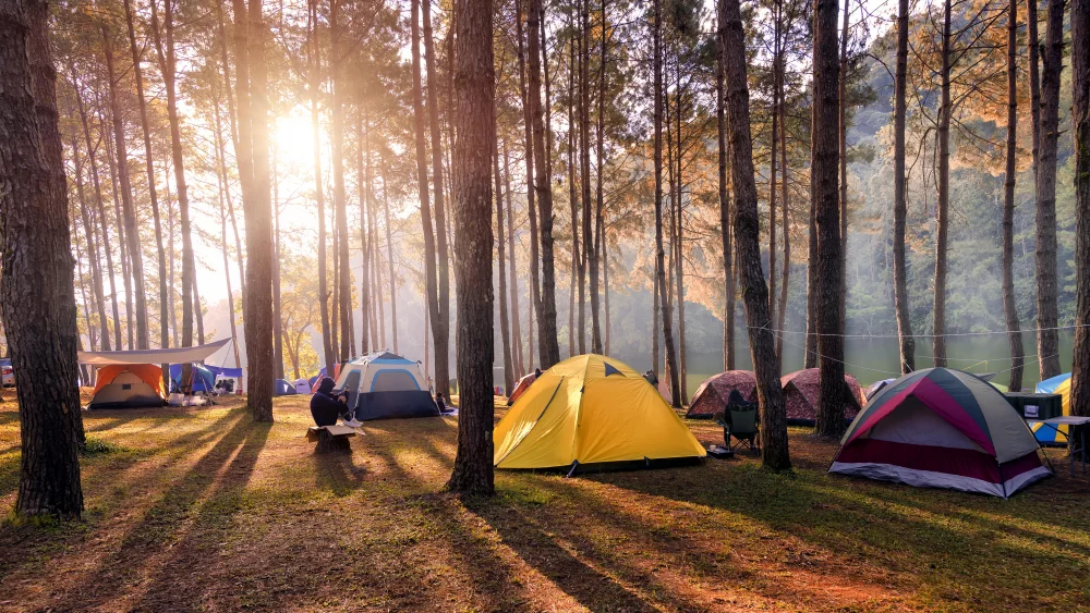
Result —
<svg viewBox="0 0 1090 613"><path fill-rule="evenodd" d="M455 418L316 456L305 402L271 427L239 401L85 413L86 522L0 524L0 610L1090 611L1090 478L1066 465L1009 501L919 490L828 477L835 444L799 430L792 476L743 453L461 500ZM0 507L17 470L9 401Z"/></svg>

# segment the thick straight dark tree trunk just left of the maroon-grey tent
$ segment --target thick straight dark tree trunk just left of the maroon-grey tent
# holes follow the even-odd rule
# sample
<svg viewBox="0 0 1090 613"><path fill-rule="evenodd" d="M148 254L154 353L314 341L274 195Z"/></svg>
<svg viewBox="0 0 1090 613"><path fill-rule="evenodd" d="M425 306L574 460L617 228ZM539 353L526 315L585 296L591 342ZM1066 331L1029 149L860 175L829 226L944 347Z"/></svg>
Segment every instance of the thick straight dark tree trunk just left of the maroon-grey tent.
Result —
<svg viewBox="0 0 1090 613"><path fill-rule="evenodd" d="M844 430L844 339L840 336L840 211L837 203L839 147L836 0L814 2L811 200L818 222L818 364L821 369L816 433ZM752 326L752 323L751 323Z"/></svg>

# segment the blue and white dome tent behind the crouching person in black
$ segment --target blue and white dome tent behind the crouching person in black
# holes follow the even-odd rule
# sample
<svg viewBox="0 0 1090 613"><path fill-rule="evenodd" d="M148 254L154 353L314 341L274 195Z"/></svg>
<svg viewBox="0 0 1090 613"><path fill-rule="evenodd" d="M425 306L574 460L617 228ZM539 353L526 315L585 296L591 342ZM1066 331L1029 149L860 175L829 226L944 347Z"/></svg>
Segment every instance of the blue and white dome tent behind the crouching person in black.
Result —
<svg viewBox="0 0 1090 613"><path fill-rule="evenodd" d="M349 393L348 405L360 421L439 415L420 363L390 352L347 363L336 390Z"/></svg>

